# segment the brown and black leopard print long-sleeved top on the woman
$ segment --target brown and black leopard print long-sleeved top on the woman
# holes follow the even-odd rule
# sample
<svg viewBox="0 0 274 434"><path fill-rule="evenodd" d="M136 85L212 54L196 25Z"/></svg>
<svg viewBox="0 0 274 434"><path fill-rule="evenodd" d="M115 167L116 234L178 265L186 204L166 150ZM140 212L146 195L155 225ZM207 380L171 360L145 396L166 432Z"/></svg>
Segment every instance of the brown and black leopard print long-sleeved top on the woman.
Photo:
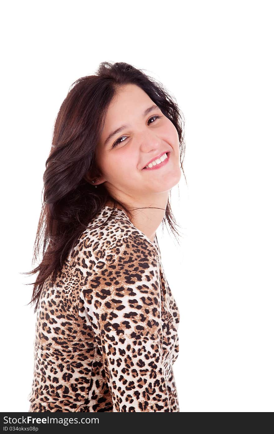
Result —
<svg viewBox="0 0 274 434"><path fill-rule="evenodd" d="M179 412L179 310L152 243L105 206L37 309L29 411Z"/></svg>

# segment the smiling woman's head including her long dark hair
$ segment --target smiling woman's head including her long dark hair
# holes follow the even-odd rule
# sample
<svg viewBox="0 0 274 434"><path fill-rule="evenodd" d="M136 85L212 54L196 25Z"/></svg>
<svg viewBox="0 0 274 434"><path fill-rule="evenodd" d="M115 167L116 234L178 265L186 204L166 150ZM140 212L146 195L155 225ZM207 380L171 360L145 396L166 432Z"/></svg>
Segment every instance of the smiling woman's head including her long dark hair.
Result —
<svg viewBox="0 0 274 434"><path fill-rule="evenodd" d="M175 237L179 234L169 194L184 173L183 132L184 117L175 100L132 65L102 62L95 75L72 84L55 119L43 176L33 257L42 242L42 262L26 273L39 272L30 301L36 300L35 310L45 279L52 274L54 282L77 238L106 203L131 217L127 204L157 203L155 195L167 195L162 223ZM168 161L161 168L143 169L164 152Z"/></svg>

